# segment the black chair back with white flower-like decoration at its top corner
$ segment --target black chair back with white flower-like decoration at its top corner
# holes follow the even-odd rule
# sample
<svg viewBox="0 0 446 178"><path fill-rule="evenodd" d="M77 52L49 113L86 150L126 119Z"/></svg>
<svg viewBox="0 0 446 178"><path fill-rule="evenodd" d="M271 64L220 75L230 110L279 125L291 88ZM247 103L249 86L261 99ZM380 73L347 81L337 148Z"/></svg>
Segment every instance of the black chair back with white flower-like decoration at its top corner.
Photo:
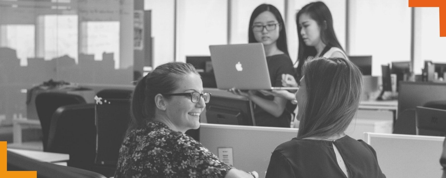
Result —
<svg viewBox="0 0 446 178"><path fill-rule="evenodd" d="M131 118L132 92L126 89L105 89L97 93L96 164L116 166L119 149Z"/></svg>

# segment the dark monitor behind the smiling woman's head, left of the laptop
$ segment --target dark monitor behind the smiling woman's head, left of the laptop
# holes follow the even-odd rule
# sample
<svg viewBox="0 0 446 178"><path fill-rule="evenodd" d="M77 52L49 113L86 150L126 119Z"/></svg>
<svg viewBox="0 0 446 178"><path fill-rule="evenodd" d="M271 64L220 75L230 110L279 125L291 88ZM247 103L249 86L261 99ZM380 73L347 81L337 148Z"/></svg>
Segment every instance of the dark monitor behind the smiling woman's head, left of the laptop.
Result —
<svg viewBox="0 0 446 178"><path fill-rule="evenodd" d="M203 87L217 88L210 56L186 56L186 63L194 65L201 76Z"/></svg>

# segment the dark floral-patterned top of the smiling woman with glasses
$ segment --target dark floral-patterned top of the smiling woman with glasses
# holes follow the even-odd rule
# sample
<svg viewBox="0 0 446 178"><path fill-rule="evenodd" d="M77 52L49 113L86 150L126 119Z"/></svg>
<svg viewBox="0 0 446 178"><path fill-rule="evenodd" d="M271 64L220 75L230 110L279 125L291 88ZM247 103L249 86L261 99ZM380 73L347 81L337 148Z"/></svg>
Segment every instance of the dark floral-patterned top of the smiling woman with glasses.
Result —
<svg viewBox="0 0 446 178"><path fill-rule="evenodd" d="M115 178L224 178L232 168L190 136L149 122L124 139Z"/></svg>

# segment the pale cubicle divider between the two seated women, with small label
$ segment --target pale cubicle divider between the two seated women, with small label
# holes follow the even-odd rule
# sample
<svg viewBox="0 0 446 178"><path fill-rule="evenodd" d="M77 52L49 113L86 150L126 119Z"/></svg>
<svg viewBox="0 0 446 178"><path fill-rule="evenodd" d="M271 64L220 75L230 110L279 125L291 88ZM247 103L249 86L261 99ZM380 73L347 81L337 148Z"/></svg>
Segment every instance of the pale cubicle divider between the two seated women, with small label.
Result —
<svg viewBox="0 0 446 178"><path fill-rule="evenodd" d="M219 156L219 148L231 148L228 160L244 171L257 171L265 177L269 159L274 149L283 142L297 137L297 129L244 125L220 125L202 123L200 142ZM221 155L220 155L221 156Z"/></svg>

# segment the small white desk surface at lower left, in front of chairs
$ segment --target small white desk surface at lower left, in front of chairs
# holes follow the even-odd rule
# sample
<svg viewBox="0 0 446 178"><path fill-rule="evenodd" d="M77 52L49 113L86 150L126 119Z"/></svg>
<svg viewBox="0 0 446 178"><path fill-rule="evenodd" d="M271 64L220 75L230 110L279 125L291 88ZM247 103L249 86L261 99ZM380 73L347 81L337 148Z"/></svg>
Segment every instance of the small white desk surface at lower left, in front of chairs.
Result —
<svg viewBox="0 0 446 178"><path fill-rule="evenodd" d="M14 153L20 154L22 156L26 156L28 158L35 159L41 162L66 162L70 160L69 154L61 154L61 153L50 153L43 151L33 151L33 150L20 150L20 149L12 149L8 148L8 151L12 151Z"/></svg>

